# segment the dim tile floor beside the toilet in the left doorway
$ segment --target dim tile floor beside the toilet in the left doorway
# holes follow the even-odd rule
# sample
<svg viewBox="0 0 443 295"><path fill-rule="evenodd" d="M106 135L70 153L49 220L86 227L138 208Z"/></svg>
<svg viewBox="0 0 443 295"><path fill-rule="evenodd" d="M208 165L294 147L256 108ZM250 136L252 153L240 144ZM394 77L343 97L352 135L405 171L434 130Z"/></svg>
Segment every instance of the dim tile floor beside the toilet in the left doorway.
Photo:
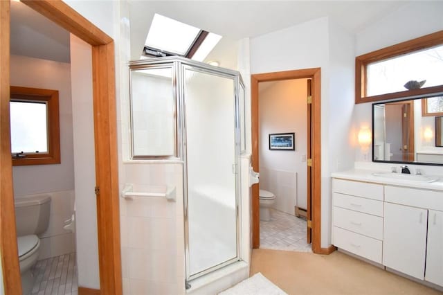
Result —
<svg viewBox="0 0 443 295"><path fill-rule="evenodd" d="M77 264L75 253L37 261L32 295L77 295Z"/></svg>

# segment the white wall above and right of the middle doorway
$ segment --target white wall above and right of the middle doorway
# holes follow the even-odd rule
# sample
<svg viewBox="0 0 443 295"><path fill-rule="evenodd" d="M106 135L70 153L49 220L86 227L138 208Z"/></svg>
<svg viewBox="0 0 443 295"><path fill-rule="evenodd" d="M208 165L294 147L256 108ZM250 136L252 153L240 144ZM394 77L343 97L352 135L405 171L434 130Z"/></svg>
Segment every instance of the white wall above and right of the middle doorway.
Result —
<svg viewBox="0 0 443 295"><path fill-rule="evenodd" d="M278 48L278 54L271 54ZM251 39L251 73L321 68L321 247L330 242L331 172L352 166L354 39L327 17Z"/></svg>

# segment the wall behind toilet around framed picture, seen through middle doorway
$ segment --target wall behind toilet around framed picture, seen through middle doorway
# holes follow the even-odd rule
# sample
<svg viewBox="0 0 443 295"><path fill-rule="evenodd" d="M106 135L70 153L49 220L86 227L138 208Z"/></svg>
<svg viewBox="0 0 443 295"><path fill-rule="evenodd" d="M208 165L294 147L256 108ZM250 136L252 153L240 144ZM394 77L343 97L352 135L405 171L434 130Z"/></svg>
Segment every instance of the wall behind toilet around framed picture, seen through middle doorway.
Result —
<svg viewBox="0 0 443 295"><path fill-rule="evenodd" d="M296 205L307 208L306 99L307 79L259 84L260 188L277 196L274 208L291 215ZM269 134L283 132L295 132L295 151L269 150Z"/></svg>

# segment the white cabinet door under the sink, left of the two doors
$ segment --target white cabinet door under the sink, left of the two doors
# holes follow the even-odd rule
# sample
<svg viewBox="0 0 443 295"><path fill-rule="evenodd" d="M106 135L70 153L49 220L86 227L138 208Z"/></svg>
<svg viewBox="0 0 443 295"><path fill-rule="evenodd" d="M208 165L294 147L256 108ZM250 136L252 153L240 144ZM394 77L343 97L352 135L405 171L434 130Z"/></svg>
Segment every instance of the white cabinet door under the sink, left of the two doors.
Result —
<svg viewBox="0 0 443 295"><path fill-rule="evenodd" d="M383 265L424 280L428 211L385 203Z"/></svg>

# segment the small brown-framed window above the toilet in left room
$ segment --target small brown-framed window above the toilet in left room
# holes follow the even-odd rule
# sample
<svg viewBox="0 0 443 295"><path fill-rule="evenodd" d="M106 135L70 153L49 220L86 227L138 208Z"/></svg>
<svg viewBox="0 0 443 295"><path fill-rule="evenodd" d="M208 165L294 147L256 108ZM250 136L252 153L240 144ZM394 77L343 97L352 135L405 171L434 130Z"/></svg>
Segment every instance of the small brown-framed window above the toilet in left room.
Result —
<svg viewBox="0 0 443 295"><path fill-rule="evenodd" d="M58 91L10 87L12 165L60 163Z"/></svg>

